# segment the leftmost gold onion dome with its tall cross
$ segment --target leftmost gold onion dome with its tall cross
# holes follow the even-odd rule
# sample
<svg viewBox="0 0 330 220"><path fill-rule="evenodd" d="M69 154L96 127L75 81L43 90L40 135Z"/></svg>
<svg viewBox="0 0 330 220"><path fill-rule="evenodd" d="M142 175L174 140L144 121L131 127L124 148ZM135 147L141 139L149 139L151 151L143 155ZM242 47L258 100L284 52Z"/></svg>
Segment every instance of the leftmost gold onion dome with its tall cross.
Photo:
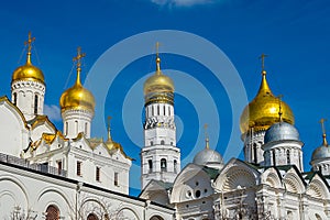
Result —
<svg viewBox="0 0 330 220"><path fill-rule="evenodd" d="M28 44L26 63L25 65L18 67L13 72L12 82L23 80L23 81L38 81L45 84L45 78L42 70L33 66L31 63L31 48L34 40L35 37L31 37L31 32L29 32L29 40L28 42L25 42L25 44Z"/></svg>

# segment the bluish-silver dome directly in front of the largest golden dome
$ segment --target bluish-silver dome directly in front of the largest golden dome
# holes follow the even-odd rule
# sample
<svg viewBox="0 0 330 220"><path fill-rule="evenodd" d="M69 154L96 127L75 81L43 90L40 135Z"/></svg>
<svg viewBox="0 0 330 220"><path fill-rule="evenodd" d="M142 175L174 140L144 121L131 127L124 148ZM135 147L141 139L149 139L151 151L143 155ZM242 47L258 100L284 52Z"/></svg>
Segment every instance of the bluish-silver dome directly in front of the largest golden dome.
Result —
<svg viewBox="0 0 330 220"><path fill-rule="evenodd" d="M270 143L273 141L282 141L282 140L295 140L300 141L298 130L286 122L279 122L273 124L265 134L264 142Z"/></svg>

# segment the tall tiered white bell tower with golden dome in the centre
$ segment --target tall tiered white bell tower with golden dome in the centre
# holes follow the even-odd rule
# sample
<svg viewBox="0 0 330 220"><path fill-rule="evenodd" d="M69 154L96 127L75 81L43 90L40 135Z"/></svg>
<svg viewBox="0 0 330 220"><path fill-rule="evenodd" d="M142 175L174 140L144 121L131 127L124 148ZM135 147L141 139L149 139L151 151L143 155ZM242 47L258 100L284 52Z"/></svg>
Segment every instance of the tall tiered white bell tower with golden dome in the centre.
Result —
<svg viewBox="0 0 330 220"><path fill-rule="evenodd" d="M156 53L156 73L144 82L144 147L141 151L142 189L152 179L173 183L180 172L180 150L176 146L174 122L174 84L161 72L158 52Z"/></svg>

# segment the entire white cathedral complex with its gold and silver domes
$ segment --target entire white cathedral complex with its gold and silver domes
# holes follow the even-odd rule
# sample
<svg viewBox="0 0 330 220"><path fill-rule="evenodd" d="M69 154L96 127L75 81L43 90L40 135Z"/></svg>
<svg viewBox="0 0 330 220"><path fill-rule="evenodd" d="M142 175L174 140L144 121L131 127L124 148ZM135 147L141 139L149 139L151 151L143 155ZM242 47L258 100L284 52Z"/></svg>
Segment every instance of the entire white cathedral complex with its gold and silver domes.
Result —
<svg viewBox="0 0 330 220"><path fill-rule="evenodd" d="M139 197L129 196L132 158L112 140L91 138L95 98L76 81L59 99L63 131L44 114L46 84L31 61L12 74L0 98L1 219L330 219L330 146L323 132L304 170L302 145L289 106L275 97L262 67L256 97L241 117L244 161L209 145L182 168L176 146L174 82L161 70L144 84L144 146ZM142 92L141 92L142 96Z"/></svg>

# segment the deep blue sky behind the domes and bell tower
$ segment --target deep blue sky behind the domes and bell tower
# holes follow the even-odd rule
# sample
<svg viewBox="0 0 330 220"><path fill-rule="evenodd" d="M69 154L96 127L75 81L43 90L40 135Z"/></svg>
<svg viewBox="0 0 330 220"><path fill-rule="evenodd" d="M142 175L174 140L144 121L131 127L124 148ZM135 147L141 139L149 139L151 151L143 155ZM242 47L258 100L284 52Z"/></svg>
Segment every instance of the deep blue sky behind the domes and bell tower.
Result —
<svg viewBox="0 0 330 220"><path fill-rule="evenodd" d="M0 94L10 97L11 74L25 61L25 55L22 56L25 53L23 42L28 32L32 31L36 37L32 61L45 75L45 103L50 112L55 112L52 118L62 130L58 100L62 92L74 84L72 59L77 46L81 46L87 53L82 70L82 78L86 78L107 50L128 37L157 30L183 31L200 36L222 50L242 79L249 100L255 96L261 81L257 57L262 53L268 55L265 64L270 86L275 95L284 95L284 101L294 111L296 127L305 142L305 169L309 170L311 152L321 144L318 121L321 118L330 120L329 14L328 1L307 0L96 0L92 3L61 0L8 1L0 8ZM139 108L130 108L129 103L127 108L130 110L122 109L128 105L124 100L130 100L130 89L135 82L136 88L140 88L143 77L154 70L152 54L155 52L155 41L151 41L150 47L145 48L150 51L150 55L132 61L118 73L106 95L105 116L112 116L112 136L122 143L130 156L136 158L134 170L139 170L139 152L143 141L142 90L140 95L134 92L140 106L132 103L132 107L138 105ZM161 53L162 50L166 51L166 46L170 45L162 44ZM202 50L198 45L190 46ZM136 45L125 50L131 50L133 54L140 47ZM125 56L128 51L119 52L118 57ZM180 134L178 145L185 163L193 160L187 155L204 147L202 124L199 120L204 116L200 116L199 109L216 108L219 114L219 119L206 118L202 122L209 124L211 146L217 147L221 154L228 147L239 148L237 145L241 146L241 142L230 141L232 128L238 128L239 124L232 123L232 117L235 116L223 81L218 81L204 64L185 55L163 53L161 56L162 67L173 70L165 73L172 76L177 70L193 76L216 102L216 106L210 107L208 102L194 102L184 94L176 96ZM109 61L109 65L116 64ZM102 74L107 75L107 70ZM176 88L183 87L185 85L176 84ZM92 92L97 89L91 88ZM191 91L193 95L195 92ZM124 120L130 119L130 111L138 112L138 122ZM220 121L220 131L217 121ZM131 123L131 129L125 123ZM328 124L326 125L330 131ZM106 128L99 130L103 132L95 132L94 135L105 136ZM133 134L128 134L128 130ZM235 135L239 140L240 134ZM218 138L219 141L216 142ZM139 176L131 178L136 183Z"/></svg>

